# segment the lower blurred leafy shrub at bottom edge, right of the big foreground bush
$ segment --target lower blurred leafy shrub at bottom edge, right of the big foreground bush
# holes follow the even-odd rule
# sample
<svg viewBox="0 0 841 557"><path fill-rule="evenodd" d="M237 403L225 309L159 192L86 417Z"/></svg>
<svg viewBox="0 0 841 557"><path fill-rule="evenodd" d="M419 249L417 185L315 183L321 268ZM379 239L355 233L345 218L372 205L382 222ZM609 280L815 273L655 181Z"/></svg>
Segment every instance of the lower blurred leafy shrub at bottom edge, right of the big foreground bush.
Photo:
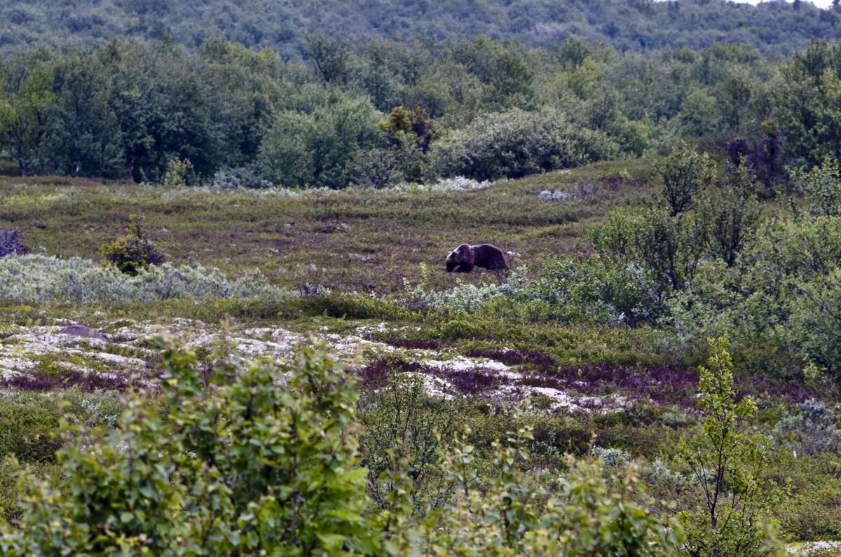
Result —
<svg viewBox="0 0 841 557"><path fill-rule="evenodd" d="M551 492L543 491L536 475L521 471L530 461L528 427L506 434L495 443L494 469L481 489L475 451L461 444L453 449L446 469L456 483L455 501L447 512L423 524L422 535L442 554L521 555L661 555L671 554L680 528L654 518L633 502L640 485L634 470L611 474L606 480L595 463L568 460L569 472ZM609 482L618 492L609 490Z"/></svg>

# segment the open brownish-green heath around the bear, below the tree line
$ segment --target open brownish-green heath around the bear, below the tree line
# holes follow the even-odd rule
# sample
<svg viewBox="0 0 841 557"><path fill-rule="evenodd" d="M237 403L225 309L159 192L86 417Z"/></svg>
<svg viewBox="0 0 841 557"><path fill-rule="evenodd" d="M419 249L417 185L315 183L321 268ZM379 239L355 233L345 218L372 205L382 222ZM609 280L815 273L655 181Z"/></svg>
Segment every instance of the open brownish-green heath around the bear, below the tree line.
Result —
<svg viewBox="0 0 841 557"><path fill-rule="evenodd" d="M225 273L261 268L294 288L321 284L389 294L418 264L452 283L444 258L459 244L492 242L530 266L547 253L586 249L586 232L616 204L653 193L648 162L603 163L456 193L394 190L166 189L71 178L0 178L0 228L24 231L34 250L98 259L131 214L176 263ZM570 192L541 199L542 191Z"/></svg>

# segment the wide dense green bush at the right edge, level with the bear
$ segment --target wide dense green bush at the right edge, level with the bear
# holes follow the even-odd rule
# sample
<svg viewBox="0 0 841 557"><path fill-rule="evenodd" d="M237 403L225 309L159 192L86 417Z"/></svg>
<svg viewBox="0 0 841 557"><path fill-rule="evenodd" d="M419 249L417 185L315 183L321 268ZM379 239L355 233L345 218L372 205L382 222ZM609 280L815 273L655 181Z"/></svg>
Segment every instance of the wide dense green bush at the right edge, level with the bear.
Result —
<svg viewBox="0 0 841 557"><path fill-rule="evenodd" d="M768 220L748 234L732 268L699 265L689 288L669 300L674 326L686 339L729 331L841 373L838 261L841 217Z"/></svg>

